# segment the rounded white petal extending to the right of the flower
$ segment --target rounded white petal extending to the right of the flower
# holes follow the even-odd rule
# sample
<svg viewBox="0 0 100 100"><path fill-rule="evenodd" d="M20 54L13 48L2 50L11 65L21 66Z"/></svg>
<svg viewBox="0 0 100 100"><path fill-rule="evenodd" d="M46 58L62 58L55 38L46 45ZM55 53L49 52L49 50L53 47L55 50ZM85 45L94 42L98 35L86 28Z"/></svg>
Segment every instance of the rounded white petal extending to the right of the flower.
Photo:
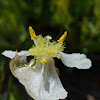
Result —
<svg viewBox="0 0 100 100"><path fill-rule="evenodd" d="M86 57L84 54L73 53L65 54L59 51L61 54L61 60L65 66L76 67L78 69L88 69L91 67L91 60Z"/></svg>

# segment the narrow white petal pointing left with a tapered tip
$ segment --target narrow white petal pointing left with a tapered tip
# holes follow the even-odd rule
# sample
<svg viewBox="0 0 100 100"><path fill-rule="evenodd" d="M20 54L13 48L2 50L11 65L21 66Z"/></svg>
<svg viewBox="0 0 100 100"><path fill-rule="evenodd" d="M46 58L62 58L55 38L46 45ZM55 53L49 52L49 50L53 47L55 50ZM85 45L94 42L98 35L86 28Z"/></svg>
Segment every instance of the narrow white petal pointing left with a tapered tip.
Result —
<svg viewBox="0 0 100 100"><path fill-rule="evenodd" d="M11 51L11 50L5 50L3 53L1 53L2 55L12 59L15 57L15 54L16 54L16 51ZM20 51L18 52L18 55L19 56L22 56L22 55L26 55L26 56L30 56L29 52L28 51Z"/></svg>

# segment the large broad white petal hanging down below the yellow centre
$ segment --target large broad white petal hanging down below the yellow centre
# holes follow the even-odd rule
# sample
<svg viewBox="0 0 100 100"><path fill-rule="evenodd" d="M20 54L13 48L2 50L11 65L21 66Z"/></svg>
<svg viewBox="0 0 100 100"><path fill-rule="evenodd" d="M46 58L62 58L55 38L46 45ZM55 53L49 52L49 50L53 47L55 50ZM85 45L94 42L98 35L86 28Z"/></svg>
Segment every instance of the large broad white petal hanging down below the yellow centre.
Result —
<svg viewBox="0 0 100 100"><path fill-rule="evenodd" d="M53 60L47 62L40 64L37 60L34 68L19 68L15 73L29 95L35 100L64 99L67 92L56 73Z"/></svg>

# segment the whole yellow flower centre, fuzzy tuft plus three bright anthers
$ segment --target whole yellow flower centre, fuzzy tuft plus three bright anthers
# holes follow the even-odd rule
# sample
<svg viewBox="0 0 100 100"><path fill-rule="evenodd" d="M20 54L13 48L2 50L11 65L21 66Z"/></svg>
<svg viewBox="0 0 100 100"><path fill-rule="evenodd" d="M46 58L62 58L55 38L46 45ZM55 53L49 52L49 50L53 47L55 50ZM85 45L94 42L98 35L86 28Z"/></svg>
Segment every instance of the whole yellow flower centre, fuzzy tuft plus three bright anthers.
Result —
<svg viewBox="0 0 100 100"><path fill-rule="evenodd" d="M31 26L29 26L29 32L30 34L33 33L33 29ZM67 32L64 32L64 34L61 36L61 38L56 41L50 41L52 37L46 36L42 37L42 35L31 35L31 39L34 39L33 36L36 36L36 42L35 45L33 45L29 49L29 53L32 54L36 59L40 59L40 63L46 63L48 59L57 57L58 59L61 58L61 55L58 53L58 51L64 51L64 43L67 35Z"/></svg>

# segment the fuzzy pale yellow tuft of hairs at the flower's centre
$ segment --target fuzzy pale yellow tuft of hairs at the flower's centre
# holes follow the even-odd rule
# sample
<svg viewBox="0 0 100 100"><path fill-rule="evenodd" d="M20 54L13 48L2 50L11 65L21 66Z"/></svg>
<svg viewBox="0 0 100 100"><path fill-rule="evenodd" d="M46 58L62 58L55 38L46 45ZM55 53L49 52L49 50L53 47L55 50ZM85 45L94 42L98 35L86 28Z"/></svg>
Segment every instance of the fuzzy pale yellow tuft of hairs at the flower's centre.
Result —
<svg viewBox="0 0 100 100"><path fill-rule="evenodd" d="M36 45L33 45L29 49L29 53L35 57L35 59L46 60L48 58L57 57L61 58L61 55L58 51L64 50L63 43L57 43L55 41L50 42L47 41L46 37L42 37L42 35L38 35L36 40ZM48 43L47 43L48 42ZM33 66L33 65L32 65Z"/></svg>

